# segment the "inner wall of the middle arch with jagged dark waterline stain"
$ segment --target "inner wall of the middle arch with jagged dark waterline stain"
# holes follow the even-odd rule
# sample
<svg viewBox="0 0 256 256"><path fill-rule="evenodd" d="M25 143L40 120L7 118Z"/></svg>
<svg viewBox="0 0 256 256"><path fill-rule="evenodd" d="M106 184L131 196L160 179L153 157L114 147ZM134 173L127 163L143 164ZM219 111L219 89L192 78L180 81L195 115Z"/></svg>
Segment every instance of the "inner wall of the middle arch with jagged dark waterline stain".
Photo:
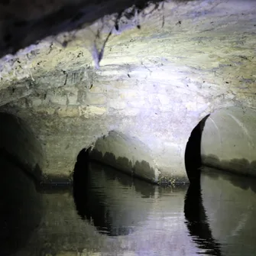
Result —
<svg viewBox="0 0 256 256"><path fill-rule="evenodd" d="M109 131L108 135L97 139L89 156L131 176L151 183L158 182L159 172L151 151L138 138Z"/></svg>

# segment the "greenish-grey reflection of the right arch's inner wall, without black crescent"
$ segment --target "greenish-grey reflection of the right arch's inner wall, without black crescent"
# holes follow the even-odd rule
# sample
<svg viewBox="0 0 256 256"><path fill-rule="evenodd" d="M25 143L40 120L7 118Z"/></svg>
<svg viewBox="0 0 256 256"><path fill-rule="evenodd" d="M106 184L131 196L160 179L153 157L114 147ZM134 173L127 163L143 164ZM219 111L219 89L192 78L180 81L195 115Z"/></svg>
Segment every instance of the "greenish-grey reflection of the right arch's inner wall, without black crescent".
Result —
<svg viewBox="0 0 256 256"><path fill-rule="evenodd" d="M222 254L254 255L255 180L205 168L201 188L212 236L222 244Z"/></svg>

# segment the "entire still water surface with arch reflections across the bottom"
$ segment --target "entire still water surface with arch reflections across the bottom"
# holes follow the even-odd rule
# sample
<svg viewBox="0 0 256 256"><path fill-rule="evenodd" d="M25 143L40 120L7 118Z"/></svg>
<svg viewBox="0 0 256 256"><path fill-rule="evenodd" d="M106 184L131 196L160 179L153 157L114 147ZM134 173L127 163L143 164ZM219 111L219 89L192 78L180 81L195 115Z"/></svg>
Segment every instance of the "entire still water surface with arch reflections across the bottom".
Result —
<svg viewBox="0 0 256 256"><path fill-rule="evenodd" d="M255 180L206 169L160 187L91 163L39 193L4 167L0 255L255 255Z"/></svg>

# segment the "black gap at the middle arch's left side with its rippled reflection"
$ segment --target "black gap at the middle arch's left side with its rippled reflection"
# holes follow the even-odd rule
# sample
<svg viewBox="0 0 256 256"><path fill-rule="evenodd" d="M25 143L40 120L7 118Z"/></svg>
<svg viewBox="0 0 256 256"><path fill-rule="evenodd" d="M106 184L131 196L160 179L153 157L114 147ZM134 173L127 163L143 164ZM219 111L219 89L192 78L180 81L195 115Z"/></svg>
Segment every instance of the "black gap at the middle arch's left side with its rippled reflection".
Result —
<svg viewBox="0 0 256 256"><path fill-rule="evenodd" d="M101 234L128 235L129 230L122 226L115 227L112 223L111 209L108 209L105 191L102 191L102 183L97 175L100 170L92 167L96 161L90 159L90 151L90 148L83 149L76 159L73 172L73 199L76 211L81 219L89 221Z"/></svg>

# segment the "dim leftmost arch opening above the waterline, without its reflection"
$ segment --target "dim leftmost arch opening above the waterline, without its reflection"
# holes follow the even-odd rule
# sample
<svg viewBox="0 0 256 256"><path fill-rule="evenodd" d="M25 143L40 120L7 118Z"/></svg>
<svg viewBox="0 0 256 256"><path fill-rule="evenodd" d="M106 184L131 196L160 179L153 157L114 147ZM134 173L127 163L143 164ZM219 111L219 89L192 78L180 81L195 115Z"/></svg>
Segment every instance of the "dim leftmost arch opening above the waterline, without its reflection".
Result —
<svg viewBox="0 0 256 256"><path fill-rule="evenodd" d="M0 154L37 182L42 179L44 154L40 142L21 118L0 112Z"/></svg>

